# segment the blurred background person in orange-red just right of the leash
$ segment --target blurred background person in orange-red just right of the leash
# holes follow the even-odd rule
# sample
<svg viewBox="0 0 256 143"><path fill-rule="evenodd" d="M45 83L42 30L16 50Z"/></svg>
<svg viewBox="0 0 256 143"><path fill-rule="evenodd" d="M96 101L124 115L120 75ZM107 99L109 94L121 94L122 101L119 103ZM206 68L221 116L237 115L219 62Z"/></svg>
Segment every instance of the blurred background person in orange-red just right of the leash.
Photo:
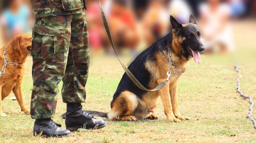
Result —
<svg viewBox="0 0 256 143"><path fill-rule="evenodd" d="M113 0L108 22L116 50L120 52L120 48L128 48L132 54L137 55L139 34L135 15L128 5L126 0ZM111 50L109 47L107 51Z"/></svg>

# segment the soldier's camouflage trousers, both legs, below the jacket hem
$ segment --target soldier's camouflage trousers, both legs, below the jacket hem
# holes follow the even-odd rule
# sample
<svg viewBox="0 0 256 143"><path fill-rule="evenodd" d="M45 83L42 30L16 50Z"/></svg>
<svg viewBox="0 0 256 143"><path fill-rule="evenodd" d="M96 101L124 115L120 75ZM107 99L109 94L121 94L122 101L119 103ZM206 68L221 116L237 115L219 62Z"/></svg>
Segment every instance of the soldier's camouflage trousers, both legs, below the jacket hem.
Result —
<svg viewBox="0 0 256 143"><path fill-rule="evenodd" d="M90 50L84 13L37 18L31 55L33 119L54 117L61 80L64 103L85 102Z"/></svg>

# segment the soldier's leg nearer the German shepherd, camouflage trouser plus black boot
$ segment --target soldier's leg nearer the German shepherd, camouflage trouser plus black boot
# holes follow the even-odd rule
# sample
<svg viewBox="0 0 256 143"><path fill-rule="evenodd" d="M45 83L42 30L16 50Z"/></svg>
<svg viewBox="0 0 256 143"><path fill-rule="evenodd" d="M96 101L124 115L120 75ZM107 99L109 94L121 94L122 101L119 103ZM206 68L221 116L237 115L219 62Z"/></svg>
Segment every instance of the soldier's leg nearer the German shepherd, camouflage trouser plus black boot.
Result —
<svg viewBox="0 0 256 143"><path fill-rule="evenodd" d="M104 120L94 119L81 110L85 102L85 84L88 78L90 51L88 46L87 21L85 14L74 14L71 22L71 39L63 78L62 99L67 103L66 129L99 129L107 124Z"/></svg>

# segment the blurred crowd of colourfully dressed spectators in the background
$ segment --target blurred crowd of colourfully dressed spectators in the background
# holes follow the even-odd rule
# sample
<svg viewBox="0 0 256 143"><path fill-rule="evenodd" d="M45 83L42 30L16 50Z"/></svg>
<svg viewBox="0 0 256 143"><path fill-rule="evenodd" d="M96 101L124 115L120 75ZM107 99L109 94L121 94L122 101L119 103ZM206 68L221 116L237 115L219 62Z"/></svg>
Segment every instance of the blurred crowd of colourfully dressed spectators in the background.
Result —
<svg viewBox="0 0 256 143"><path fill-rule="evenodd" d="M31 32L34 16L29 0L1 0L2 43L14 35ZM112 53L100 15L98 0L86 0L89 44L97 53ZM170 15L188 23L190 14L197 19L206 53L215 49L232 51L230 20L256 17L256 0L101 0L114 44L119 51L137 54L143 43L147 48L170 32Z"/></svg>

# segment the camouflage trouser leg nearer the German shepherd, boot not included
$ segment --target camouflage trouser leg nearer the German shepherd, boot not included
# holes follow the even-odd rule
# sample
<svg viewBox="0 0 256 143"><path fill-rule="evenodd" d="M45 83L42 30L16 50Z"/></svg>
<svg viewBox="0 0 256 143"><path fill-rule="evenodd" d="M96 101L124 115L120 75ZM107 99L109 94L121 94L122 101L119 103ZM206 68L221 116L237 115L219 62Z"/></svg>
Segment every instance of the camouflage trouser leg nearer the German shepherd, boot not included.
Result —
<svg viewBox="0 0 256 143"><path fill-rule="evenodd" d="M71 22L67 65L63 78L63 102L85 102L85 84L88 78L89 64L90 50L85 14L74 14Z"/></svg>

